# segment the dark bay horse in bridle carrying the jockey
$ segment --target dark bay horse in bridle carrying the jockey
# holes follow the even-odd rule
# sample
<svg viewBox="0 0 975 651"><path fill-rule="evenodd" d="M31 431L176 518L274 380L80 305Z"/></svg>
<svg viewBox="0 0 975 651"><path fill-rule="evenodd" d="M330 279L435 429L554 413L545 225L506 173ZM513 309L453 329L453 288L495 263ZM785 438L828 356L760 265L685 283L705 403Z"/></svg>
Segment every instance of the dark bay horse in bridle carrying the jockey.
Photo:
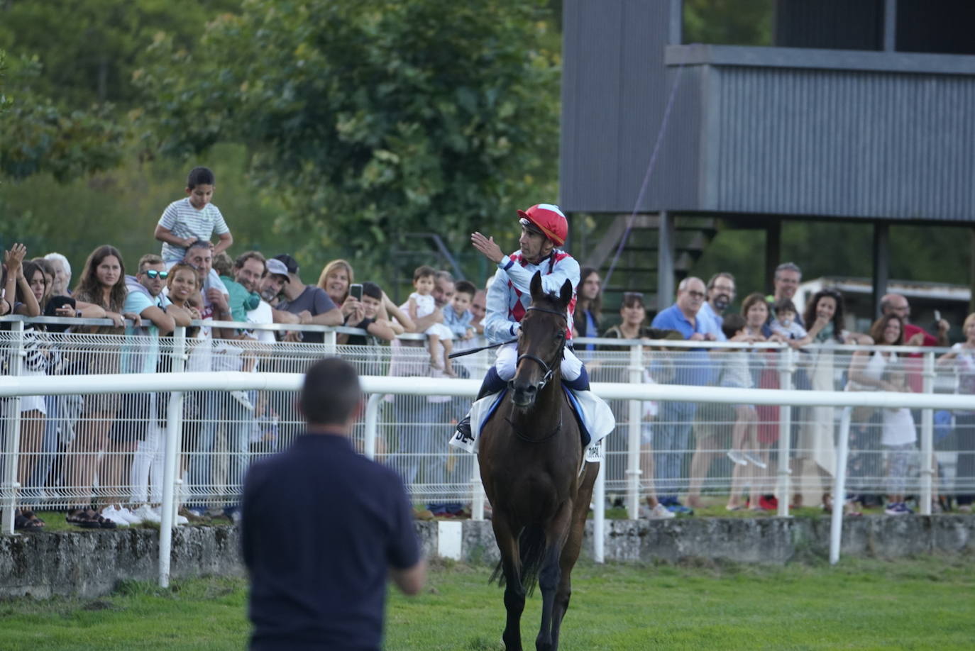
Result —
<svg viewBox="0 0 975 651"><path fill-rule="evenodd" d="M535 648L555 651L599 464L580 473L579 426L562 388L572 284L546 294L536 273L530 288L515 376L481 432L478 456L501 553L491 580L505 587L505 649L522 649L525 596L537 582L542 618Z"/></svg>

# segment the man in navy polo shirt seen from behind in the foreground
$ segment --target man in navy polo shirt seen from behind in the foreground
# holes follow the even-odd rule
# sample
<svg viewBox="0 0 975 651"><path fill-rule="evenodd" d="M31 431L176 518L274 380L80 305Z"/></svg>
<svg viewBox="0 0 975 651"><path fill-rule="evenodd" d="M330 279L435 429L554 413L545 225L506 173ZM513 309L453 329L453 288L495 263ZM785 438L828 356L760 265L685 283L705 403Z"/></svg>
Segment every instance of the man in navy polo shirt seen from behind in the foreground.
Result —
<svg viewBox="0 0 975 651"><path fill-rule="evenodd" d="M362 410L351 364L313 364L299 406L306 434L255 463L244 485L251 649L378 651L387 574L406 594L425 580L409 499L349 442Z"/></svg>

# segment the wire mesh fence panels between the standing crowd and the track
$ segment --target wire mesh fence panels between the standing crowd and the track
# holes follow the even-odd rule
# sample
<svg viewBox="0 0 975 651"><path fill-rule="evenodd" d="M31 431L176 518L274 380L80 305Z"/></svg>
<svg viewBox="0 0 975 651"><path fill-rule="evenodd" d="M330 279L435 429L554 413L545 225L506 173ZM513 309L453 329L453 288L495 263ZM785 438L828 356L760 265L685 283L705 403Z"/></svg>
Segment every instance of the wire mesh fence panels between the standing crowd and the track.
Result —
<svg viewBox="0 0 975 651"><path fill-rule="evenodd" d="M925 359L879 348L811 346L792 352L659 344L602 340L597 350L580 347L578 355L593 382L778 389L782 404L609 401L617 423L605 444L610 496L627 493L637 476L641 499L680 497L694 504L717 498L738 508L746 503L756 507L762 496L774 495L793 504L818 505L829 497L836 472L842 409L790 407L792 392L897 386L904 392L966 394L972 393L975 378L975 368L960 357L936 363L944 351L928 350ZM213 339L189 332L185 346L177 348L167 337L57 332L30 325L22 331L0 330L4 374L77 379L73 395L2 399L0 482L5 496L19 505L46 508L161 500L170 394L86 393L87 376L166 373L177 358L187 371L301 373L331 354L349 360L363 375L443 376L431 367L424 342L416 340L333 346ZM457 362L460 377L480 379L491 357L482 352ZM880 386L872 385L872 378ZM380 402L375 458L400 474L417 504L466 504L480 489L476 457L447 444L469 403L416 395L389 395ZM248 467L303 431L295 395L284 391L189 391L179 420L178 497L202 509L233 507ZM850 493L917 494L925 471L919 453L925 427L934 450L936 493L970 503L975 404L971 410L926 413L855 409L846 465ZM353 442L365 449L363 424ZM784 476L789 494L783 494Z"/></svg>

